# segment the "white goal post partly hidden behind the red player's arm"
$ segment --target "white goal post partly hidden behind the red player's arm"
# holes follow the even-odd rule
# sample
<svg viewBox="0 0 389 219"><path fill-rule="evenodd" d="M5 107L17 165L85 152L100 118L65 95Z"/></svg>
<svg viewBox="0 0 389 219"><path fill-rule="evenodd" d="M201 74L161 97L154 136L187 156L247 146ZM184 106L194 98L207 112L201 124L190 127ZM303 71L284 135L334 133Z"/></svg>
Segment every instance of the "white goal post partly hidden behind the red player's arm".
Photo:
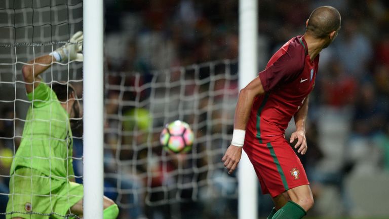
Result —
<svg viewBox="0 0 389 219"><path fill-rule="evenodd" d="M257 74L257 4L257 0L239 1L239 89L244 88ZM239 163L238 184L238 217L258 218L257 177L245 152Z"/></svg>

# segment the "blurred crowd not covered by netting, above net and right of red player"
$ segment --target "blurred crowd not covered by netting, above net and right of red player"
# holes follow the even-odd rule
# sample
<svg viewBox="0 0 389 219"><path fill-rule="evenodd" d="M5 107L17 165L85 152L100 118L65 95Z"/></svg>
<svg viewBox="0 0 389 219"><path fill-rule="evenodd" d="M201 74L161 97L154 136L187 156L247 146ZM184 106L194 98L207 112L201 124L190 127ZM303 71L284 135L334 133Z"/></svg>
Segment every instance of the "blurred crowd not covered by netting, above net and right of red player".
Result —
<svg viewBox="0 0 389 219"><path fill-rule="evenodd" d="M369 214L355 210L361 203L354 201L359 197L353 197L358 188L353 183L389 170L389 4L258 1L259 71L280 46L304 32L310 12L323 5L340 11L342 26L334 44L321 53L316 88L310 94L309 150L301 160L319 200L312 214L328 211L331 203L338 206L335 215ZM238 7L238 1L228 0L106 1L107 70L141 72L141 84L146 84L155 69L237 59ZM199 77L209 77L209 72ZM111 82L119 84L113 78ZM378 188L388 182L382 180ZM263 215L272 205L262 197L259 204L267 206L259 206Z"/></svg>

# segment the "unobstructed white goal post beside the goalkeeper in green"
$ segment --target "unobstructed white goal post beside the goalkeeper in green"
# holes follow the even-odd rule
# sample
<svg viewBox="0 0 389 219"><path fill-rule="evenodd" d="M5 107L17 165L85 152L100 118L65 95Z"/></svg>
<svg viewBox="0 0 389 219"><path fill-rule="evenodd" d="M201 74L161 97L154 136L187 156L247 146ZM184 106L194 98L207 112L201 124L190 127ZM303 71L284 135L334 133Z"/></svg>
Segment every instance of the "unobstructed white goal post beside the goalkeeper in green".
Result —
<svg viewBox="0 0 389 219"><path fill-rule="evenodd" d="M84 0L84 218L103 218L103 1Z"/></svg>

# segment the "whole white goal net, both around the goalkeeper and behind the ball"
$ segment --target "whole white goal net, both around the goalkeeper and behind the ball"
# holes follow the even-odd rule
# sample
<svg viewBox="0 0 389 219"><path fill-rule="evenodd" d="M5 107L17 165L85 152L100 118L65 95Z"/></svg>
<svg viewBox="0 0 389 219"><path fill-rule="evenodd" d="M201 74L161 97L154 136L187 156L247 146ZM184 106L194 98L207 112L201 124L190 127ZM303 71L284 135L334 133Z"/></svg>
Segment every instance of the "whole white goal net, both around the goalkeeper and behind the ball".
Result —
<svg viewBox="0 0 389 219"><path fill-rule="evenodd" d="M6 205L13 195L8 186L11 163L23 127L30 122L26 114L32 102L26 97L22 67L63 46L82 29L82 0L0 2L0 217L17 213L6 212ZM120 218L145 212L156 217L190 211L210 218L234 214L229 211L237 211L237 179L226 173L221 158L233 129L237 60L150 72L105 66L104 195L119 205ZM41 77L49 86L72 84L82 101L81 62L55 63ZM164 125L174 120L187 122L195 133L187 153L169 153L159 142ZM73 130L71 158L79 183L83 182L82 143L82 133ZM33 176L29 179L32 184ZM40 196L55 200L52 194ZM26 203L22 213L69 216L53 209L34 211L34 203L29 204L32 210Z"/></svg>

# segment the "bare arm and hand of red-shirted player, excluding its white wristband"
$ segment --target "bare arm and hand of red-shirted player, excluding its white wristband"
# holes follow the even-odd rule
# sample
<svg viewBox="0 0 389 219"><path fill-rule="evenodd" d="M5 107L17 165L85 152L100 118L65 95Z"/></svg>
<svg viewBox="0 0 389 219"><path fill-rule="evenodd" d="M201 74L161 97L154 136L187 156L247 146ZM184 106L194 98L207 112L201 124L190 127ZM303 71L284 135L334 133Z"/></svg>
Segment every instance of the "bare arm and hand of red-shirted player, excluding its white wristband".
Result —
<svg viewBox="0 0 389 219"><path fill-rule="evenodd" d="M246 130L254 98L264 93L265 91L259 77L256 77L240 91L235 109L234 131ZM232 142L225 152L221 161L224 162L224 166L228 169L228 174L231 174L237 168L242 156L242 146L243 142L242 145L234 145L234 142Z"/></svg>

